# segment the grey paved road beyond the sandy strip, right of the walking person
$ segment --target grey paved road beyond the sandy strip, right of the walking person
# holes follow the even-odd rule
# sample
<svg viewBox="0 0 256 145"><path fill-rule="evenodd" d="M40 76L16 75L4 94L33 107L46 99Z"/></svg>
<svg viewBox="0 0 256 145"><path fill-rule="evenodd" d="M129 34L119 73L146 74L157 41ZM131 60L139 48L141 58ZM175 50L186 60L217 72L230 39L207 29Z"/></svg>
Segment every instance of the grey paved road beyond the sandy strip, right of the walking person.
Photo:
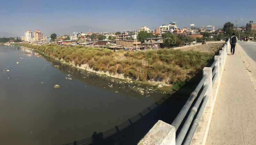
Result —
<svg viewBox="0 0 256 145"><path fill-rule="evenodd" d="M256 62L256 42L253 42L253 41L238 41L237 43L244 49L245 53L254 62ZM235 50L235 51L237 51L237 50Z"/></svg>

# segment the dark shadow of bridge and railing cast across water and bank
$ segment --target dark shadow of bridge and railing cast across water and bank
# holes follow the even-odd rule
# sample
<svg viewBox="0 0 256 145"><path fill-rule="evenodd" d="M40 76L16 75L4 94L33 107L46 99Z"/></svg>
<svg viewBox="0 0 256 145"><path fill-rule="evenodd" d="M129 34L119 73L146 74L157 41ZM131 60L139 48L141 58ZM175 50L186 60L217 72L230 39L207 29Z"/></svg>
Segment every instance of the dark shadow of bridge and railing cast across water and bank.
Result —
<svg viewBox="0 0 256 145"><path fill-rule="evenodd" d="M217 53L215 52L215 54L217 54ZM186 82L190 81L195 76L196 76L196 80L198 79L200 81L203 77L202 73L200 73L200 71L202 71L202 69L204 67L207 67L208 65L212 64L213 57L214 57L214 55L212 55L211 58L209 58L206 62L204 62L201 65L201 67L196 69L196 71L191 73L189 75L190 77L188 77L186 79ZM168 110L169 114L165 115L165 116L168 116L167 117L168 119L164 120L166 123L169 123L169 124L172 123L174 118L179 113L180 109L183 107L183 105L187 101L186 99L190 95L190 94L188 94L188 96L183 96L183 98L177 95L178 97L175 98L174 93L177 92L180 89L180 87L184 86L186 84L186 82L180 84L176 88L173 88L173 91L171 91L169 94L166 94L164 97L159 99L157 102L155 102L151 106L147 107L142 112L139 112L137 115L128 119L124 123L122 123L120 125L117 125L117 126L111 128L111 129L109 129L105 132L100 132L100 133L94 132L92 134L92 137L86 138L84 140L74 141L74 142L70 142L70 143L67 143L67 144L63 144L63 145L101 145L101 144L117 145L120 142L122 142L122 144L125 144L125 145L126 144L127 145L137 144L140 141L140 139L142 139L143 136L147 134L147 132L150 130L150 128L153 127L153 125L158 120L161 119L162 116L161 115L159 116L159 112L160 112L161 109L159 109L158 111L155 111L155 110L157 110L156 108L160 107L161 104L163 104L164 102L170 102L171 101L172 104L174 104L173 106L171 106L169 108L169 110ZM197 82L195 82L195 83L197 83ZM169 99L171 96L173 96L172 100ZM175 99L173 100L173 98L175 98ZM181 102L181 103L179 105L177 105L177 102ZM168 104L168 105L170 105L170 104ZM162 110L163 109L165 109L165 108L162 107ZM173 111L173 110L176 110L176 111ZM150 112L152 113L151 116L147 117L147 115L150 114ZM158 115L158 116L155 118L154 121L148 122L148 119L149 118L151 119L152 116L154 118L154 115L156 115L156 116ZM143 118L145 118L145 120L143 120ZM127 130L129 130L128 129L129 127L130 127L130 130L132 130L132 131L127 131ZM133 127L133 128L131 128L131 127ZM141 129L141 128L143 128L143 129ZM136 129L138 129L138 130L136 130ZM124 131L124 130L126 130L126 131ZM123 136L127 135L127 132L130 132L129 133L130 135L132 134L132 135L136 136L136 137L132 138L133 141L123 139Z"/></svg>

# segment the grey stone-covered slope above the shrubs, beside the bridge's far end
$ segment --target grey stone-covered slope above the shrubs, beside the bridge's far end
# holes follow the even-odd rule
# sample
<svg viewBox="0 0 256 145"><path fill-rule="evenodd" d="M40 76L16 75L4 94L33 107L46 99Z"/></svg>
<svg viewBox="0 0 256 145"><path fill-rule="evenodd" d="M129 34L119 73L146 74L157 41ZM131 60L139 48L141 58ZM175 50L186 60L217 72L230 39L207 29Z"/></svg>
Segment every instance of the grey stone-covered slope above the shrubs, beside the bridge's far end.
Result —
<svg viewBox="0 0 256 145"><path fill-rule="evenodd" d="M220 43L208 43L206 44L201 44L201 45L196 45L196 46L190 46L190 47L183 47L180 48L183 51L187 50L196 50L200 52L218 52L219 49L225 44L225 42L220 42Z"/></svg>

